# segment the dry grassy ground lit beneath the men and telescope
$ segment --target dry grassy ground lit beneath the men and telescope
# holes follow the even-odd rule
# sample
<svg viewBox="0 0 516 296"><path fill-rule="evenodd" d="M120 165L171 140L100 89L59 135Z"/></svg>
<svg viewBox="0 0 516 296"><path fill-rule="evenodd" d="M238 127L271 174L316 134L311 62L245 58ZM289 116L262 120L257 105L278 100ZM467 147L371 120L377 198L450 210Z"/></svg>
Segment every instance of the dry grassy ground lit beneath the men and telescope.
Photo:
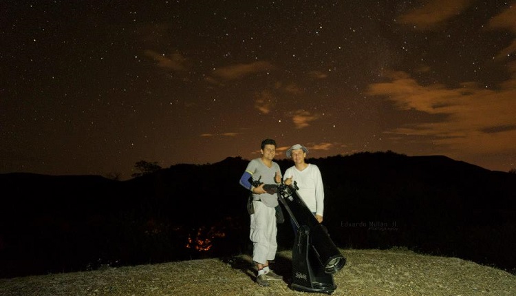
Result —
<svg viewBox="0 0 516 296"><path fill-rule="evenodd" d="M453 257L404 250L341 249L347 263L334 274L332 295L516 295L516 276ZM272 269L285 276L269 287L255 283L248 255L106 267L98 271L0 279L0 295L324 295L290 288L292 252L278 253Z"/></svg>

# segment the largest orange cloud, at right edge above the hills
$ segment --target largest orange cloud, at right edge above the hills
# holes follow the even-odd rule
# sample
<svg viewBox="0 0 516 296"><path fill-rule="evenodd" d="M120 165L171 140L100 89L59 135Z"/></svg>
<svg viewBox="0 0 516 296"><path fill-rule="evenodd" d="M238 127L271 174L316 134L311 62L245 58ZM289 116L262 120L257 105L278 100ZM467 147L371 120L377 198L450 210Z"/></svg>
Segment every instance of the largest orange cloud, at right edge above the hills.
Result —
<svg viewBox="0 0 516 296"><path fill-rule="evenodd" d="M409 123L387 131L395 136L422 136L424 141L461 154L503 153L516 147L516 87L485 89L423 86L405 72L392 72L389 83L369 85L367 94L385 96L400 111L439 114L440 120ZM514 79L513 79L514 80ZM515 81L513 81L515 82ZM444 119L443 119L444 118Z"/></svg>

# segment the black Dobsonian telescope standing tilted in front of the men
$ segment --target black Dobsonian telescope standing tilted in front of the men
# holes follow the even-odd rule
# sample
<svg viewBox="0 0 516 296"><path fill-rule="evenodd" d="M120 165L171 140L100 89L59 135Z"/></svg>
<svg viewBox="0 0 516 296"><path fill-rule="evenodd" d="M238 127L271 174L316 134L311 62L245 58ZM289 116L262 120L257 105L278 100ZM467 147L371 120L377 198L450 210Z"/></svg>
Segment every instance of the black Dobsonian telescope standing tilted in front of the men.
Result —
<svg viewBox="0 0 516 296"><path fill-rule="evenodd" d="M253 181L258 187L261 182ZM277 193L279 202L297 227L292 246L292 290L331 294L337 288L333 274L346 264L326 228L319 224L314 214L297 193L296 182L265 184L268 193Z"/></svg>

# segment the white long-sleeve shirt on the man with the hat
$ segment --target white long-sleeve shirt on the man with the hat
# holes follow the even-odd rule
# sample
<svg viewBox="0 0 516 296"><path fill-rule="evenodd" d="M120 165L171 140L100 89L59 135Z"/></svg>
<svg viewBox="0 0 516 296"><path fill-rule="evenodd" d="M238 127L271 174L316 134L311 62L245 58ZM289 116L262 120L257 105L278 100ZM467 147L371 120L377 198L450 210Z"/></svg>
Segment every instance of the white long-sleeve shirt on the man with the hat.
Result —
<svg viewBox="0 0 516 296"><path fill-rule="evenodd" d="M291 177L292 182L297 182L297 187L299 187L297 193L308 209L312 213L322 216L324 211L324 187L319 167L308 164L308 167L305 167L303 171L299 171L295 166L289 167L283 174L283 180Z"/></svg>

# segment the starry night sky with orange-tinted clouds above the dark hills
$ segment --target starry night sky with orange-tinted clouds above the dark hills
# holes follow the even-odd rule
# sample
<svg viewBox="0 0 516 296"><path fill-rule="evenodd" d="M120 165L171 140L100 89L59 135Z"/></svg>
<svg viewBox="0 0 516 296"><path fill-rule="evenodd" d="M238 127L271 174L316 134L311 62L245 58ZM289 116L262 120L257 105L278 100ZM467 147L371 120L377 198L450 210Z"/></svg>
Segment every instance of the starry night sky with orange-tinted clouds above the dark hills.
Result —
<svg viewBox="0 0 516 296"><path fill-rule="evenodd" d="M2 1L0 173L394 151L516 167L516 1Z"/></svg>

